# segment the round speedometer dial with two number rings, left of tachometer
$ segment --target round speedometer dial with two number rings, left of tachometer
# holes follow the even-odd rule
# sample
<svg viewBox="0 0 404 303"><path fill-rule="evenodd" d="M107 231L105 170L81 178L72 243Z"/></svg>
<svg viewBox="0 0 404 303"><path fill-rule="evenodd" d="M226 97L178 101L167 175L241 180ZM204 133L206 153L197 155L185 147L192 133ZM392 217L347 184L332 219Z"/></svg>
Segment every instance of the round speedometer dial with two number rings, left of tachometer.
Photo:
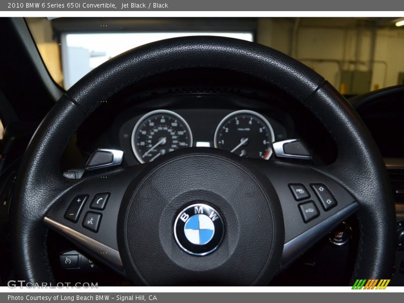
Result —
<svg viewBox="0 0 404 303"><path fill-rule="evenodd" d="M140 163L151 162L170 151L191 146L192 133L188 123L171 111L147 113L132 131L132 149Z"/></svg>

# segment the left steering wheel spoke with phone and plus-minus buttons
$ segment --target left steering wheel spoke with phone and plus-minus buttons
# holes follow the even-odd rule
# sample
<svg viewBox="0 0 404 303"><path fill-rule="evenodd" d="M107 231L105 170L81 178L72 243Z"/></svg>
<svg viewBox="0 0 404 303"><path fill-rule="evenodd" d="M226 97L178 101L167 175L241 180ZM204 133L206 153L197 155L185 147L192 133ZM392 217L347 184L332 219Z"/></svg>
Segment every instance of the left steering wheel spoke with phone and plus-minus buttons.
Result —
<svg viewBox="0 0 404 303"><path fill-rule="evenodd" d="M81 179L55 201L44 223L98 261L123 274L117 221L129 183L146 165Z"/></svg>

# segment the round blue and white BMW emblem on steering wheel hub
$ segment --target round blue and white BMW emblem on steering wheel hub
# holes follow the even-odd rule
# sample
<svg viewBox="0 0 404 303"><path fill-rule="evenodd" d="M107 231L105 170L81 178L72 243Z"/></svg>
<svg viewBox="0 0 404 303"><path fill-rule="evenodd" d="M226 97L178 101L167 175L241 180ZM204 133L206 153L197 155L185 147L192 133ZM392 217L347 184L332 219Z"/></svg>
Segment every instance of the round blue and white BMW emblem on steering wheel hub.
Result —
<svg viewBox="0 0 404 303"><path fill-rule="evenodd" d="M174 223L178 245L194 256L206 256L218 248L224 235L219 213L206 204L193 204L183 209Z"/></svg>

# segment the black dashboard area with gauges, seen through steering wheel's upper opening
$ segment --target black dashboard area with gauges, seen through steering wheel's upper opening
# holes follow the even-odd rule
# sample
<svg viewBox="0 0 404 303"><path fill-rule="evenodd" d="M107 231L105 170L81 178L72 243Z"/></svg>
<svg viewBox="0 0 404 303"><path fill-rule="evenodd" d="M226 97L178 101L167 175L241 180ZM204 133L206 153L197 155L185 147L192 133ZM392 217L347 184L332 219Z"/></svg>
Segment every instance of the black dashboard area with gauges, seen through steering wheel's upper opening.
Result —
<svg viewBox="0 0 404 303"><path fill-rule="evenodd" d="M271 143L293 138L304 140L320 165L336 158L322 123L279 88L222 71L195 77L170 73L103 102L77 132L81 163L63 161L62 169L83 167L97 148L123 150L125 166L191 146L272 161Z"/></svg>

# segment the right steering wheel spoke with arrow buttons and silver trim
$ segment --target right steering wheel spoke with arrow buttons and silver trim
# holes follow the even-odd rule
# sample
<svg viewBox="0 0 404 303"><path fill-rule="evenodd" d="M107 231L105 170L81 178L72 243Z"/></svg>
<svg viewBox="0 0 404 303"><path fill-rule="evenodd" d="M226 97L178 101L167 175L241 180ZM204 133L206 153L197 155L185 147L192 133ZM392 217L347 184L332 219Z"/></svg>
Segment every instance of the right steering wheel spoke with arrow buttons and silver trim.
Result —
<svg viewBox="0 0 404 303"><path fill-rule="evenodd" d="M273 184L282 207L281 270L359 209L343 186L309 165L253 161Z"/></svg>

